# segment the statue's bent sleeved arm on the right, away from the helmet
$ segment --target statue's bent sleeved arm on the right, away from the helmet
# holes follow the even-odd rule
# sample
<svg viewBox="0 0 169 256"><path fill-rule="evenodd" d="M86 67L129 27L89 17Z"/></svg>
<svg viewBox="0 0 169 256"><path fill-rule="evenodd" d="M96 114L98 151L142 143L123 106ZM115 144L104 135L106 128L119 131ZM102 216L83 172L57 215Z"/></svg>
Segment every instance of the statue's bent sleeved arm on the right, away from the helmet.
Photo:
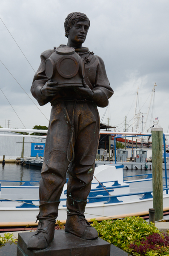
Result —
<svg viewBox="0 0 169 256"><path fill-rule="evenodd" d="M109 104L109 98L113 95L114 91L110 87L103 60L98 56L97 58L97 74L95 86L92 90L94 93L92 100L97 104L98 107L104 108Z"/></svg>

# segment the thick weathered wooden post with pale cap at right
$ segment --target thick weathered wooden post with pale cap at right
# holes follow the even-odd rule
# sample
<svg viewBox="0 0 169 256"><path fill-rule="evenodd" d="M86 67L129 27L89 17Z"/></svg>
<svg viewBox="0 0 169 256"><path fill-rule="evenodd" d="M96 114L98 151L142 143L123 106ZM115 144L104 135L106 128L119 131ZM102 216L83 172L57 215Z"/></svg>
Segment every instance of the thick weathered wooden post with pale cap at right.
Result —
<svg viewBox="0 0 169 256"><path fill-rule="evenodd" d="M152 128L152 191L155 221L163 219L163 128Z"/></svg>

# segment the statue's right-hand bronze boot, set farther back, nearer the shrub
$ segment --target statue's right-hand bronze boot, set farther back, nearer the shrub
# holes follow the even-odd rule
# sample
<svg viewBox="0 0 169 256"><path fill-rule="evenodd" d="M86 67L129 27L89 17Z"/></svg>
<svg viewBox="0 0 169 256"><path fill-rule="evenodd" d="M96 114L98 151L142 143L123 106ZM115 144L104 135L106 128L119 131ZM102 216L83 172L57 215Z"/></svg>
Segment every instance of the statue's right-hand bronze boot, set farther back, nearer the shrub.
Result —
<svg viewBox="0 0 169 256"><path fill-rule="evenodd" d="M98 238L98 233L84 216L86 203L87 201L75 201L72 198L67 198L65 231L82 239L94 240Z"/></svg>

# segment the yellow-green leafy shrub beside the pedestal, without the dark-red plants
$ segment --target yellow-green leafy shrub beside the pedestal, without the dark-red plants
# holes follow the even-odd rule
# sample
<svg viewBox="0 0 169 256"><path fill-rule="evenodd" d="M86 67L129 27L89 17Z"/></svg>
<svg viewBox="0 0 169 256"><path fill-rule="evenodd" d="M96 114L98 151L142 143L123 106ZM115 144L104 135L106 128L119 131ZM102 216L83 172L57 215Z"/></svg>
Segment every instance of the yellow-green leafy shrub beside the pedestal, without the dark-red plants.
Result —
<svg viewBox="0 0 169 256"><path fill-rule="evenodd" d="M95 227L101 239L128 253L131 253L129 244L153 233L160 233L153 223L149 225L141 217L126 217L124 220L102 221L100 223L95 219L92 219L92 221L92 226Z"/></svg>

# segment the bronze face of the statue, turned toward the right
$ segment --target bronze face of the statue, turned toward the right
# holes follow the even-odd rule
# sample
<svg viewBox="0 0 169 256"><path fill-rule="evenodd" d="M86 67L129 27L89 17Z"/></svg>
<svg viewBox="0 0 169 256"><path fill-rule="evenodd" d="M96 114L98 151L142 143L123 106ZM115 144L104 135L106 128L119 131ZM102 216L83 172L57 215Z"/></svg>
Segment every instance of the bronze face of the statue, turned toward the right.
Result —
<svg viewBox="0 0 169 256"><path fill-rule="evenodd" d="M68 39L74 44L83 44L89 30L87 21L79 21L69 29Z"/></svg>

